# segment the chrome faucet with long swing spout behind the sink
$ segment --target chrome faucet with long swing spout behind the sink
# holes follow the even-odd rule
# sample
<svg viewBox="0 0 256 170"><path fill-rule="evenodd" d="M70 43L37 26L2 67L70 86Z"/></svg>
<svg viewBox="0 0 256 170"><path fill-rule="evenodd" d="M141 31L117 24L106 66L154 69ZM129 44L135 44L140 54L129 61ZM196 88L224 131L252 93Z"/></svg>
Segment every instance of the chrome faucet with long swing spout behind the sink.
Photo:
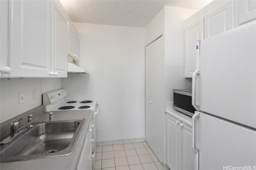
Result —
<svg viewBox="0 0 256 170"><path fill-rule="evenodd" d="M17 135L19 135L20 133L22 133L23 131L25 131L27 128L32 127L32 123L38 119L40 119L41 117L44 117L46 115L50 115L49 116L49 121L53 121L53 113L44 113L42 115L40 115L39 117L36 117L36 119L32 120L32 116L33 115L28 115L28 123L26 123L25 125L23 125L22 127L19 128L19 121L21 119L24 119L25 117L22 117L20 119L14 119L11 122L11 132L10 132L10 136L7 137L6 139L4 139L0 145L6 145L8 144L10 141L12 141L12 139L14 139L14 137L16 137ZM25 127L27 127L25 129Z"/></svg>

